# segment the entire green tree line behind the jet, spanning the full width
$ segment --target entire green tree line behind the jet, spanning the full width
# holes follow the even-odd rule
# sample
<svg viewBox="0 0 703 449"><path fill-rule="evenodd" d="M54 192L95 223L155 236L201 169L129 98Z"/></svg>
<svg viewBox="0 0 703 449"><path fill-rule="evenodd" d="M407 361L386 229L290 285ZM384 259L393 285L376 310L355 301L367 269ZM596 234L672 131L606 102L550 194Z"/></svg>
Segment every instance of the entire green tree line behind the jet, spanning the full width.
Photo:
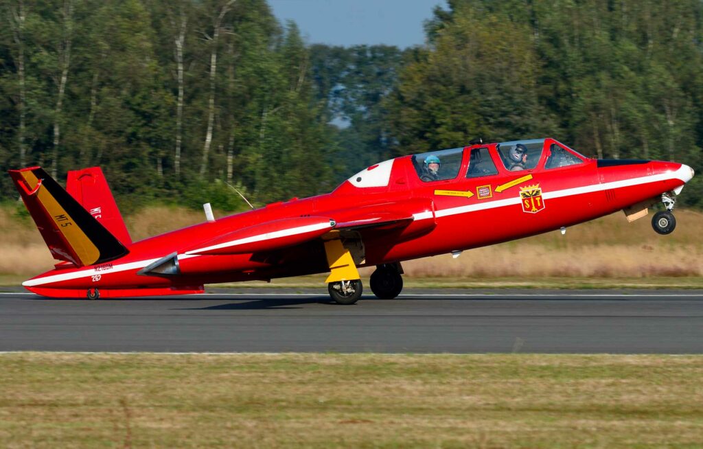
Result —
<svg viewBox="0 0 703 449"><path fill-rule="evenodd" d="M0 0L0 164L120 204L323 193L388 157L553 136L703 168L695 0L449 0L426 44L309 45L264 0ZM682 197L703 205L697 176ZM16 193L0 177L0 198Z"/></svg>

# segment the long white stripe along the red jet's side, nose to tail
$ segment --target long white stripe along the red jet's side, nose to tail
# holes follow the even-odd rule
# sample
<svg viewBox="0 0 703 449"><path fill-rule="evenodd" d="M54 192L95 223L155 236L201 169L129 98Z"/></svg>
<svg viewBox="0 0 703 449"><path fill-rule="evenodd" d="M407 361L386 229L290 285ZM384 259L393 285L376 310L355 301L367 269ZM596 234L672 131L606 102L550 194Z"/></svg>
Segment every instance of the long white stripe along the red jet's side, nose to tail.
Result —
<svg viewBox="0 0 703 449"><path fill-rule="evenodd" d="M680 179L682 183L686 183L690 180L690 178L691 178L690 167L688 167L686 165L682 165L680 169L678 169L676 171L669 171L668 173L650 175L650 176L641 176L640 178L624 179L622 181L612 181L610 183L593 184L593 185L583 186L583 187L567 188L564 190L555 190L553 192L545 192L545 193L543 193L542 196L544 197L545 200L549 200L551 198L560 198L560 197L567 197L567 196L572 196L572 195L582 195L583 193L593 193L593 192L598 192L600 190L608 190L608 189L612 189L612 188L638 186L640 184L653 183L653 182L657 182L657 181L666 181L669 179ZM439 218L442 216L465 214L467 212L475 212L475 211L485 210L485 209L495 209L496 207L510 206L512 204L520 204L520 197L515 196L515 197L507 198L505 200L495 200L495 201L489 201L489 202L482 202L479 204L472 204L470 206L460 206L460 207L451 207L449 209L440 209L437 212L435 212L434 215L436 215L437 218ZM418 214L413 214L413 219L415 219L415 220L432 219L432 216L433 216L432 212L420 212ZM233 240L233 242L226 242L226 243L222 243L220 245L224 245L224 246L242 245L243 243L245 243L245 242L243 242L243 240L249 240L248 242L255 242L255 241L259 241L259 240L265 240L266 235L269 235L269 236L275 235L275 237L268 237L268 238L284 237L284 236L288 236L288 235L295 235L297 233L305 233L305 232L311 232L313 230L320 230L320 229L323 229L324 227L328 227L328 226L330 226L330 225L328 225L327 223L318 223L315 225L300 226L299 228L290 228L290 229L276 231L273 233L265 233L265 234L261 234L261 235L255 235L253 237L247 237L245 239ZM304 230L306 228L307 228L307 230ZM253 239L257 239L257 238L259 240L253 240ZM196 249L194 251L189 251L186 254L179 254L178 258L179 258L179 260L189 259L191 257L198 256L198 254L191 254L193 252L205 251L207 249L214 249L214 247L224 247L224 246L220 246L220 245L213 245L213 247L205 247L205 248L201 248L201 249ZM159 259L160 258L116 264L116 265L112 266L112 269L109 271L96 272L96 271L94 271L93 268L87 268L85 270L72 271L71 273L60 273L60 274L56 274L56 275L49 275L49 276L45 276L44 278L36 278L36 279L26 280L25 282L22 282L22 285L24 285L25 287L35 287L38 285L45 285L45 284L49 284L52 282L61 282L64 280L87 278L88 276L96 275L96 274L110 274L110 273L119 273L120 271L141 269L141 268L144 268L145 266L148 266L150 263L153 263Z"/></svg>

